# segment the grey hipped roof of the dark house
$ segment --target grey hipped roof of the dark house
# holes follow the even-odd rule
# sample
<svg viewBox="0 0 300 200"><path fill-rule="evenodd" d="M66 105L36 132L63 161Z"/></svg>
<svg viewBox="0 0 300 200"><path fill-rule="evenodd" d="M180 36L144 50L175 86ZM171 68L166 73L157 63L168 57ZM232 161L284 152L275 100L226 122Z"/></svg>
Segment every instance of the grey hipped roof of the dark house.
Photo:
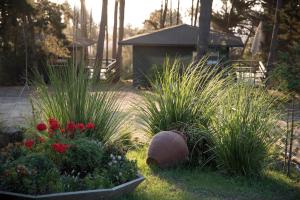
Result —
<svg viewBox="0 0 300 200"><path fill-rule="evenodd" d="M196 46L198 27L181 24L125 39L119 44L136 46ZM210 31L210 46L243 47L240 37Z"/></svg>

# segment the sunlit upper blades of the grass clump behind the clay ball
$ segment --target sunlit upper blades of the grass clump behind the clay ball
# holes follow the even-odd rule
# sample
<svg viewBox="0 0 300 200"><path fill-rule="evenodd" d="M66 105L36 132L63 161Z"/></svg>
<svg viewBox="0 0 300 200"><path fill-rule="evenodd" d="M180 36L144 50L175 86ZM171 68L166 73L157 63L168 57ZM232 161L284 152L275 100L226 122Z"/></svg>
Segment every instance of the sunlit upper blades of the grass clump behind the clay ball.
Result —
<svg viewBox="0 0 300 200"><path fill-rule="evenodd" d="M166 59L160 71L143 104L137 105L145 131L154 135L199 121L207 127L216 106L212 100L226 84L225 71L207 66L206 59L187 66L179 59Z"/></svg>

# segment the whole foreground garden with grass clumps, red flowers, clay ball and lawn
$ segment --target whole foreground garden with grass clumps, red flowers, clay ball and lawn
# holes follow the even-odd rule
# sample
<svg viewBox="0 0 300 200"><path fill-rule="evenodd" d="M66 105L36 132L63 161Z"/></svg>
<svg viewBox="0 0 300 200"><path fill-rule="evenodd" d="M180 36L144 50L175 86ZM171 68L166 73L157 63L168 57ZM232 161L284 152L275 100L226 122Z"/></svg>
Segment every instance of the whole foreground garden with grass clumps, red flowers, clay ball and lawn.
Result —
<svg viewBox="0 0 300 200"><path fill-rule="evenodd" d="M80 66L48 67L49 83L34 72L0 197L299 199L299 174L282 172L282 100L206 63L166 59L130 112Z"/></svg>

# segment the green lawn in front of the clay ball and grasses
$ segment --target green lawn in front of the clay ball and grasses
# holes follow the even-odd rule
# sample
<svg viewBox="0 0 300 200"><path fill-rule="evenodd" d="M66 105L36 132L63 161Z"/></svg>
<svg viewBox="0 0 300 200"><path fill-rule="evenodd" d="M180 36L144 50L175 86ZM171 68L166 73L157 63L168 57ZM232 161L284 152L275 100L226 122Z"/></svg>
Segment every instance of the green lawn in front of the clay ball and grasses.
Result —
<svg viewBox="0 0 300 200"><path fill-rule="evenodd" d="M121 200L297 200L300 184L276 171L264 173L260 179L229 177L211 170L150 169L146 165L146 150L131 151L128 157L137 159L146 180L136 191Z"/></svg>

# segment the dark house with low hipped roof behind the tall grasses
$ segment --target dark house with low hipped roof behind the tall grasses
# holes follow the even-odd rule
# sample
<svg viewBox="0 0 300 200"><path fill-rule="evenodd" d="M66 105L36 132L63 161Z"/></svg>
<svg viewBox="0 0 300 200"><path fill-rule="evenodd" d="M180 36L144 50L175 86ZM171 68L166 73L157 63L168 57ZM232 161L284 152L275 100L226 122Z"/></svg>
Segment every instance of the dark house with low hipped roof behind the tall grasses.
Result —
<svg viewBox="0 0 300 200"><path fill-rule="evenodd" d="M179 57L184 63L190 63L196 55L198 27L187 24L177 25L125 39L119 45L133 47L133 85L143 85L153 66L162 65L166 57ZM243 47L240 37L232 34L210 32L209 61L229 58L232 47Z"/></svg>

